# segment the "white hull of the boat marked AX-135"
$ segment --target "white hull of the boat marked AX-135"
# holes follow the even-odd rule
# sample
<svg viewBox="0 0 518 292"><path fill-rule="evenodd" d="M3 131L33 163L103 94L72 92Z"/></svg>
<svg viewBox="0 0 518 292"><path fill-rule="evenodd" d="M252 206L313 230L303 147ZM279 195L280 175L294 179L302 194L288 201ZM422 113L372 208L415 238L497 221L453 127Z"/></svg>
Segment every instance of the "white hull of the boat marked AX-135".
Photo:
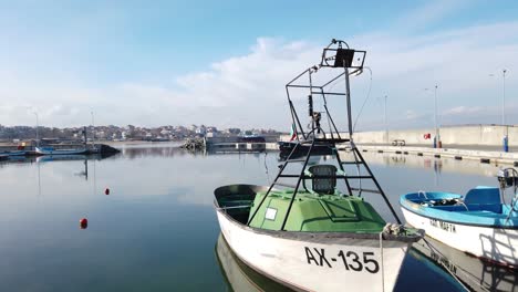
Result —
<svg viewBox="0 0 518 292"><path fill-rule="evenodd" d="M298 239L288 234L291 231L282 234L249 228L221 210L217 216L225 239L240 260L301 291L392 291L411 244L383 240L381 248L379 239L340 236Z"/></svg>

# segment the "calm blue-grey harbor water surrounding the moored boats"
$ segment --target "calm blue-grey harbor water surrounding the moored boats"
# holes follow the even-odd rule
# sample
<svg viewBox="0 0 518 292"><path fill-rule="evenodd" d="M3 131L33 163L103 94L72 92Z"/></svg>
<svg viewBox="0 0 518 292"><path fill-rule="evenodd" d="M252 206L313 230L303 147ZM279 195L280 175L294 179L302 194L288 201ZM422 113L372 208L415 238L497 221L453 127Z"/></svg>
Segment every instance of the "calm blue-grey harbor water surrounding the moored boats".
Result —
<svg viewBox="0 0 518 292"><path fill-rule="evenodd" d="M194 155L167 144L122 149L106 159L0 164L0 291L279 290L218 243L213 209L213 191L221 185L268 185L277 153ZM364 155L395 207L400 195L419 189L463 194L496 185L496 166ZM81 218L89 219L85 230ZM433 259L407 257L396 290L462 290L445 269L450 263Z"/></svg>

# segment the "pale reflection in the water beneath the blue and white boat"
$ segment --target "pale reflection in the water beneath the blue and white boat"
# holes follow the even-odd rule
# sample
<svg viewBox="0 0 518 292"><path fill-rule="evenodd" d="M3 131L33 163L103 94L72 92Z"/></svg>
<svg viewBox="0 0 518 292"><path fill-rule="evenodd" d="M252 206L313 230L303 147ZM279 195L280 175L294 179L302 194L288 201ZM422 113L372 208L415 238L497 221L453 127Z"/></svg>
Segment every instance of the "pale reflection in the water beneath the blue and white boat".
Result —
<svg viewBox="0 0 518 292"><path fill-rule="evenodd" d="M473 291L516 291L518 271L495 265L426 237L414 243L413 257L426 265L445 269Z"/></svg>

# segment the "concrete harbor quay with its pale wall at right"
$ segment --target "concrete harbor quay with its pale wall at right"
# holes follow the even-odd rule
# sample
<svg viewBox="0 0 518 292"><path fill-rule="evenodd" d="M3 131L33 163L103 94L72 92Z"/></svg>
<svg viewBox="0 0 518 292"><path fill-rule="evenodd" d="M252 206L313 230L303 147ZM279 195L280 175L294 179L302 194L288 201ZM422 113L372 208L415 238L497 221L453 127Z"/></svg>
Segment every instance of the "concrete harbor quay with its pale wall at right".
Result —
<svg viewBox="0 0 518 292"><path fill-rule="evenodd" d="M363 152L473 159L485 164L518 166L518 126L459 125L437 128L356 132L353 139ZM348 134L341 133L343 137ZM289 140L281 135L280 140ZM350 148L342 144L341 150Z"/></svg>

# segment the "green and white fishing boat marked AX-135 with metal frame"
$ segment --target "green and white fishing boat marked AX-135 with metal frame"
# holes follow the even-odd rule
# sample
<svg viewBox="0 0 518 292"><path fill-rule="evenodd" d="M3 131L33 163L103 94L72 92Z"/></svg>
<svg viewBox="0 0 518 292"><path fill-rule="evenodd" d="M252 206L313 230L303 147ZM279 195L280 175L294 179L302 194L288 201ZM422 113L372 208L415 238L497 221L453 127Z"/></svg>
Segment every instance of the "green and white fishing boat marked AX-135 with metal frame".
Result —
<svg viewBox="0 0 518 292"><path fill-rule="evenodd" d="M237 184L215 190L217 218L232 252L255 271L293 290L392 291L408 247L423 237L422 230L400 225L352 139L349 82L362 72L365 54L332 40L319 65L287 84L299 142L291 154L308 146L302 158L289 155L269 186ZM345 83L344 91L330 91L339 80ZM301 88L309 92L307 132L290 96ZM345 97L348 137L334 125L327 96ZM317 106L323 111L314 111ZM321 126L322 115L328 117L329 133ZM351 145L352 160L339 157L336 144L343 143ZM331 147L334 157L314 163L310 158L318 146ZM387 223L363 192L381 195L397 223Z"/></svg>

